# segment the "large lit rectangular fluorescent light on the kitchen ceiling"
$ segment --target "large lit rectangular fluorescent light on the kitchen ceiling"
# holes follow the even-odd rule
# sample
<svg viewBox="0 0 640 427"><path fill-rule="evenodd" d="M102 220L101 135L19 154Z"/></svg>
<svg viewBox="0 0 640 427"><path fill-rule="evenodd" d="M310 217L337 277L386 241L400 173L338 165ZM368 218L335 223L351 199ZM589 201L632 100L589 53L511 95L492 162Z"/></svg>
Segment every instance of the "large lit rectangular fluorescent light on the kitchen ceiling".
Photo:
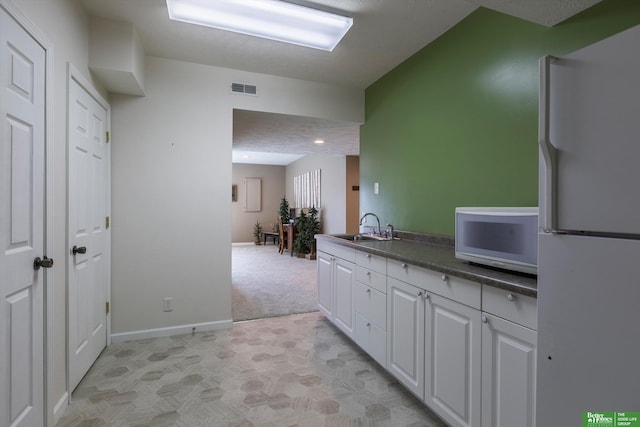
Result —
<svg viewBox="0 0 640 427"><path fill-rule="evenodd" d="M169 18L332 51L353 19L279 0L167 0Z"/></svg>

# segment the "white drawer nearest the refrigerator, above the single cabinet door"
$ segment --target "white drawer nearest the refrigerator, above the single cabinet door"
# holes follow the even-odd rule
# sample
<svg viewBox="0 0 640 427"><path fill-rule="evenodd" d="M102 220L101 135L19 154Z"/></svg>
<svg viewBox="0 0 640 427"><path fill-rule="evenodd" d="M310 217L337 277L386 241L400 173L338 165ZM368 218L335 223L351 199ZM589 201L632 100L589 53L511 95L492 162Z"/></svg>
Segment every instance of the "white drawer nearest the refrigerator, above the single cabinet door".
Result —
<svg viewBox="0 0 640 427"><path fill-rule="evenodd" d="M533 330L538 327L538 301L527 295L483 285L482 311Z"/></svg>

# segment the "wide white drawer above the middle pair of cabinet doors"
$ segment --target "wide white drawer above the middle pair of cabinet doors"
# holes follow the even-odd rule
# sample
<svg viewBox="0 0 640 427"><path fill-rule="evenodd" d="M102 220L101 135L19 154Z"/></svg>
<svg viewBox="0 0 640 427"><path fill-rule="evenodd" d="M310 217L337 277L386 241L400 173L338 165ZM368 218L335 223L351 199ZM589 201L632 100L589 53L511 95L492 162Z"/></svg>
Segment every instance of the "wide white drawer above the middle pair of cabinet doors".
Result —
<svg viewBox="0 0 640 427"><path fill-rule="evenodd" d="M480 309L482 286L479 283L396 260L387 261L387 271L398 280Z"/></svg>

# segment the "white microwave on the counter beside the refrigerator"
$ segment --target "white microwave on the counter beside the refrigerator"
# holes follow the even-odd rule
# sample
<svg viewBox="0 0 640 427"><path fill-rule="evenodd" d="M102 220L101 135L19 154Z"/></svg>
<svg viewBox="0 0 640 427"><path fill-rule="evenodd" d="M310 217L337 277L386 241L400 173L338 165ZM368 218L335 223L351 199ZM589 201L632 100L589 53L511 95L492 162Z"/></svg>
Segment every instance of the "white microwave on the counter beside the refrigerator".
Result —
<svg viewBox="0 0 640 427"><path fill-rule="evenodd" d="M538 208L456 208L456 258L537 274Z"/></svg>

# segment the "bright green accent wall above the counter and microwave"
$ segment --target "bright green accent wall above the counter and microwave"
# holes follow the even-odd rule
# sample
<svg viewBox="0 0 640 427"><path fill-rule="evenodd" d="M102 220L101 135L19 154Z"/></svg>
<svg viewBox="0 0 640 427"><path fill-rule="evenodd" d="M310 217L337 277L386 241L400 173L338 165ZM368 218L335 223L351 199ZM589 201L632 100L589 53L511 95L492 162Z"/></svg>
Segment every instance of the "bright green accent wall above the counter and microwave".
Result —
<svg viewBox="0 0 640 427"><path fill-rule="evenodd" d="M366 89L361 213L453 236L456 206L537 206L538 58L636 24L638 0L605 0L552 28L474 11Z"/></svg>

